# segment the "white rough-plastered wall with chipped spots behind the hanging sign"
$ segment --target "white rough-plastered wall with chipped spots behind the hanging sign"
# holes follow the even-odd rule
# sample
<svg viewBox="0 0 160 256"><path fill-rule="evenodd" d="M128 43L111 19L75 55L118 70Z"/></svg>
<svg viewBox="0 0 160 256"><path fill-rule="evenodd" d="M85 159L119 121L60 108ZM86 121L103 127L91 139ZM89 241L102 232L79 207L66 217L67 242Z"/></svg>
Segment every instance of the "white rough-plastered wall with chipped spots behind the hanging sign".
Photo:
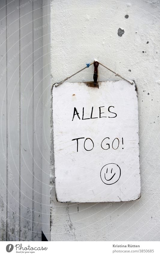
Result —
<svg viewBox="0 0 160 256"><path fill-rule="evenodd" d="M51 180L53 241L160 239L159 15L159 1L51 2L53 82L61 81L94 58L136 81L141 172L141 198L126 203L57 203ZM119 28L124 30L121 37L117 34ZM101 66L98 69L99 81L119 79ZM92 77L93 66L70 81L92 81ZM53 164L52 154L54 177Z"/></svg>

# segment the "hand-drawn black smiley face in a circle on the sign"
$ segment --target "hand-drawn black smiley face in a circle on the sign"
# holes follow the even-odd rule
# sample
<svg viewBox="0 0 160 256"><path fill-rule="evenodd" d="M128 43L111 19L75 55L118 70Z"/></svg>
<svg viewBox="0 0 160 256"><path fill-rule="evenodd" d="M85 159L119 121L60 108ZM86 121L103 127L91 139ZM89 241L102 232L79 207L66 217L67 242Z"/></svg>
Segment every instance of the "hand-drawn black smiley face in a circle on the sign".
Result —
<svg viewBox="0 0 160 256"><path fill-rule="evenodd" d="M104 184L112 185L119 180L121 169L116 163L108 163L102 167L100 176Z"/></svg>

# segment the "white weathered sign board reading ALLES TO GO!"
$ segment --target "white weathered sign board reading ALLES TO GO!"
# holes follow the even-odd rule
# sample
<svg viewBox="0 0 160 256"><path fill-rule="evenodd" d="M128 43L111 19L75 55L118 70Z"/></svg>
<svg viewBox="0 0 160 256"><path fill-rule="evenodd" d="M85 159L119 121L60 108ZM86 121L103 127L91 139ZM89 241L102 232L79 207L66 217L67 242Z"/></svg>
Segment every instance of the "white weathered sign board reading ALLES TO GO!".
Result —
<svg viewBox="0 0 160 256"><path fill-rule="evenodd" d="M140 198L135 84L65 82L52 93L57 201Z"/></svg>

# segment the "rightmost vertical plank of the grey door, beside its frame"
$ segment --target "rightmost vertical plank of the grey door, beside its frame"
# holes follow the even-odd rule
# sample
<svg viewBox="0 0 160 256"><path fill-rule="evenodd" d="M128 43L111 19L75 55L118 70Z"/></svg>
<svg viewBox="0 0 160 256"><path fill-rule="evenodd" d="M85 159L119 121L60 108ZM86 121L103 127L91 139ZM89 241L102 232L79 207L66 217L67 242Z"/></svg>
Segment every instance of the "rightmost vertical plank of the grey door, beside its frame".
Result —
<svg viewBox="0 0 160 256"><path fill-rule="evenodd" d="M33 1L33 241L41 240L41 173L42 173L42 1Z"/></svg>

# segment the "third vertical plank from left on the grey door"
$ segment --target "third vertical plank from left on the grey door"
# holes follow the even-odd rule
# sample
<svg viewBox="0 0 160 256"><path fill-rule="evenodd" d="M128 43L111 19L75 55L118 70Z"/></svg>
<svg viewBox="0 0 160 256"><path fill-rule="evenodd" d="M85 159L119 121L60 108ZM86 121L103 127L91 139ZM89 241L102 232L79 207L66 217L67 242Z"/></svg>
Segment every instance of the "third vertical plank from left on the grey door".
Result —
<svg viewBox="0 0 160 256"><path fill-rule="evenodd" d="M24 5L26 0L21 0ZM33 28L32 3L20 9L21 80L21 241L32 241L33 223Z"/></svg>

